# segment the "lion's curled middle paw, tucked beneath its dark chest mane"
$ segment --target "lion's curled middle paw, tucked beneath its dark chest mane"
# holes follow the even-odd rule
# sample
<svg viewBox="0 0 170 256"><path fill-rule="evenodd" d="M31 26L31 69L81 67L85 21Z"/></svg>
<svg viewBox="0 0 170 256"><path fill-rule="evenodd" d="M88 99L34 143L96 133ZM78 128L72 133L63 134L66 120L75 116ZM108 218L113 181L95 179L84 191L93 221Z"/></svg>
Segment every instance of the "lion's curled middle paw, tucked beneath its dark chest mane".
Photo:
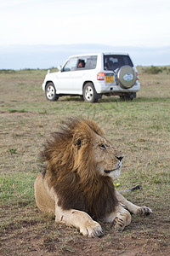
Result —
<svg viewBox="0 0 170 256"><path fill-rule="evenodd" d="M122 231L124 228L131 223L131 215L129 212L119 212L113 221L115 230Z"/></svg>

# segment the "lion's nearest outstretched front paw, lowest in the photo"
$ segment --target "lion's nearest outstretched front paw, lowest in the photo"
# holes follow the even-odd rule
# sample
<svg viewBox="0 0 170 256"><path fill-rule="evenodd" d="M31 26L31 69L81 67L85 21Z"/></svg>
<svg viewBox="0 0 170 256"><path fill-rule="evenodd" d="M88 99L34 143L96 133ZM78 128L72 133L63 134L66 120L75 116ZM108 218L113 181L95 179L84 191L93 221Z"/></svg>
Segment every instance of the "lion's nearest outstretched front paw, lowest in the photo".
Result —
<svg viewBox="0 0 170 256"><path fill-rule="evenodd" d="M87 224L84 224L83 227L80 229L80 232L83 236L87 237L96 237L104 235L100 224L94 220L88 222Z"/></svg>

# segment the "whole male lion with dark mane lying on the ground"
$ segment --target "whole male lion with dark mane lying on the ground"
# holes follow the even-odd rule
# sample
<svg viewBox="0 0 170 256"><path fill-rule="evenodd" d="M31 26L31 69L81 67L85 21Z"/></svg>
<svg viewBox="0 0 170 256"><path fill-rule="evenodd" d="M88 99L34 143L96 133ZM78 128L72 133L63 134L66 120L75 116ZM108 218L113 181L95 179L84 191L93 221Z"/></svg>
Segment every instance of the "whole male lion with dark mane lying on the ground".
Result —
<svg viewBox="0 0 170 256"><path fill-rule="evenodd" d="M83 236L102 236L99 222L123 230L131 223L130 212L152 212L116 191L113 180L121 174L123 155L94 120L68 119L44 145L42 159L47 166L34 184L37 207Z"/></svg>

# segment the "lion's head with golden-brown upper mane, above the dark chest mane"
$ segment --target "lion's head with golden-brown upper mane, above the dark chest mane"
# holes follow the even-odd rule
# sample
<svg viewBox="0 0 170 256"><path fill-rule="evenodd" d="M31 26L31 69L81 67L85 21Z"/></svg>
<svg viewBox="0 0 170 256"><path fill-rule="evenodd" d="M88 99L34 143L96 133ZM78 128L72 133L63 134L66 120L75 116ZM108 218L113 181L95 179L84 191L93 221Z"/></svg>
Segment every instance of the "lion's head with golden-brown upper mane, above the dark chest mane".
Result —
<svg viewBox="0 0 170 256"><path fill-rule="evenodd" d="M93 120L71 119L63 130L54 133L43 151L53 177L77 173L79 183L89 183L99 176L115 179L121 174L122 154L105 137ZM51 174L49 174L51 177ZM52 181L53 185L56 180Z"/></svg>

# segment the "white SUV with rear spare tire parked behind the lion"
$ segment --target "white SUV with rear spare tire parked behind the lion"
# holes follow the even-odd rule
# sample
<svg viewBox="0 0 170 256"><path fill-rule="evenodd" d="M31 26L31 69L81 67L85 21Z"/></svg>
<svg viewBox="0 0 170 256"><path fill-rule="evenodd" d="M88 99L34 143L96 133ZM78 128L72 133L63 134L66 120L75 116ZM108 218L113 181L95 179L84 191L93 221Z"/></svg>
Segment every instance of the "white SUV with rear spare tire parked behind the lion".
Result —
<svg viewBox="0 0 170 256"><path fill-rule="evenodd" d="M42 84L49 101L68 95L83 96L85 102L97 102L102 95L133 100L139 89L138 73L129 55L113 53L73 55L59 72L48 72Z"/></svg>

